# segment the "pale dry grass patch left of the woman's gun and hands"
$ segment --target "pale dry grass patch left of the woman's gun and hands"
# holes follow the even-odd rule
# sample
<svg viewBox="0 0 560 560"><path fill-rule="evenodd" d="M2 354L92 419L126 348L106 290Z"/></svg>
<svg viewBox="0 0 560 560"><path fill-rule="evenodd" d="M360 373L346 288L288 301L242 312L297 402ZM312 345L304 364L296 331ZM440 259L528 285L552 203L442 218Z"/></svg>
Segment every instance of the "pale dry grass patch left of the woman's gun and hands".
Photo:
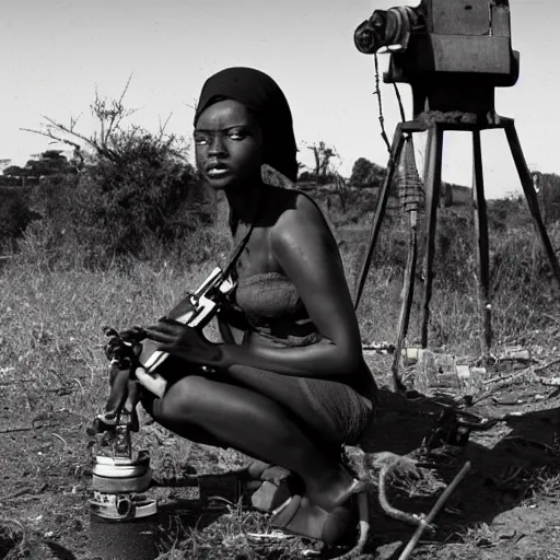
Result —
<svg viewBox="0 0 560 560"><path fill-rule="evenodd" d="M66 392L68 408L93 412L107 385L103 326L153 323L211 268L51 270L15 257L0 273L0 381L22 394L28 410L45 406L50 392Z"/></svg>

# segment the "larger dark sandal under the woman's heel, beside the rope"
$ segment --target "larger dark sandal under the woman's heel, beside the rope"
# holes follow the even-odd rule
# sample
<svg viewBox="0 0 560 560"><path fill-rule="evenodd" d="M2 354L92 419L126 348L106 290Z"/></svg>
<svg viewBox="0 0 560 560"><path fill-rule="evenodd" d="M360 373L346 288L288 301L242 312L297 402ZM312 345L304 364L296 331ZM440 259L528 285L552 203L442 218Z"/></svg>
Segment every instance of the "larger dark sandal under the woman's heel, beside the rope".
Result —
<svg viewBox="0 0 560 560"><path fill-rule="evenodd" d="M349 535L358 521L359 544L363 548L369 530L368 497L365 482L354 479L340 505L332 511L328 512L311 502L308 498L298 494L272 512L270 525L292 535L335 545Z"/></svg>

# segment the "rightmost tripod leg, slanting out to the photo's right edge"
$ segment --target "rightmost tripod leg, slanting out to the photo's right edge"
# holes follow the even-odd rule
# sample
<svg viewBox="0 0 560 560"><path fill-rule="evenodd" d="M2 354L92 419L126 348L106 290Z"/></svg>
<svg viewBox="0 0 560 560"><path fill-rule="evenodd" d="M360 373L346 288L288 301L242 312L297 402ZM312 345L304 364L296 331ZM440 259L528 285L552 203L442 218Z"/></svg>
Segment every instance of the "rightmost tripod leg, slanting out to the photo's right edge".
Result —
<svg viewBox="0 0 560 560"><path fill-rule="evenodd" d="M542 222L542 217L538 207L537 194L535 191L535 186L533 185L533 179L530 178L527 163L525 162L525 156L523 155L523 150L520 144L517 131L515 130L514 121L508 121L504 125L504 130L505 136L508 137L508 142L510 144L510 150L512 151L513 161L515 162L515 167L517 167L517 174L520 175L521 185L523 187L523 191L525 192L529 212L533 217L535 230L540 235L540 241L542 242L542 246L545 247L548 260L550 261L550 267L552 268L552 272L558 281L558 284L560 285L560 266L558 265L555 249L550 243L550 238L548 237L545 223Z"/></svg>

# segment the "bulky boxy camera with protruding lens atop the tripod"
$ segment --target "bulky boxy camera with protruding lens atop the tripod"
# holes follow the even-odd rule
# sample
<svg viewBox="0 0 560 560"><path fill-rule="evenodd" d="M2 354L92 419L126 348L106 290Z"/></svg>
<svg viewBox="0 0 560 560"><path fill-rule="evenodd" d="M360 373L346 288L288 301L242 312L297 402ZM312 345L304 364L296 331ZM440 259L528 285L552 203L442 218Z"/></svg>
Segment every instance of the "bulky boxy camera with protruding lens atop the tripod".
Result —
<svg viewBox="0 0 560 560"><path fill-rule="evenodd" d="M514 85L508 0L422 0L418 7L375 10L358 26L360 52L389 51L384 81L412 86L415 117L424 110L486 114L494 88Z"/></svg>

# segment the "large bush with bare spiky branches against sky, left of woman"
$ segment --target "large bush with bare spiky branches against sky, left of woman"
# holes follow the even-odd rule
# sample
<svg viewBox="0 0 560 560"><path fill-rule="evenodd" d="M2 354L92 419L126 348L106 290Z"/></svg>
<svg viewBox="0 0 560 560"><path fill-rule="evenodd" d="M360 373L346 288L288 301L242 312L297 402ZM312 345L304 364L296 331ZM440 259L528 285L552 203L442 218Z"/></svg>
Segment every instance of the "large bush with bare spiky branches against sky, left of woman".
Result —
<svg viewBox="0 0 560 560"><path fill-rule="evenodd" d="M201 250L208 249L194 241L206 235L215 200L197 183L184 141L167 135L165 124L156 133L126 124L135 113L122 103L127 89L128 83L116 101L95 95L97 127L91 136L77 129L78 119L66 126L44 117L45 128L31 130L73 145L79 164L73 179L47 180L39 189L52 238L63 230L95 265L118 255L150 256L158 246L168 250L170 242L185 240L179 245L187 259L203 258ZM49 159L57 160L54 151L42 160Z"/></svg>

